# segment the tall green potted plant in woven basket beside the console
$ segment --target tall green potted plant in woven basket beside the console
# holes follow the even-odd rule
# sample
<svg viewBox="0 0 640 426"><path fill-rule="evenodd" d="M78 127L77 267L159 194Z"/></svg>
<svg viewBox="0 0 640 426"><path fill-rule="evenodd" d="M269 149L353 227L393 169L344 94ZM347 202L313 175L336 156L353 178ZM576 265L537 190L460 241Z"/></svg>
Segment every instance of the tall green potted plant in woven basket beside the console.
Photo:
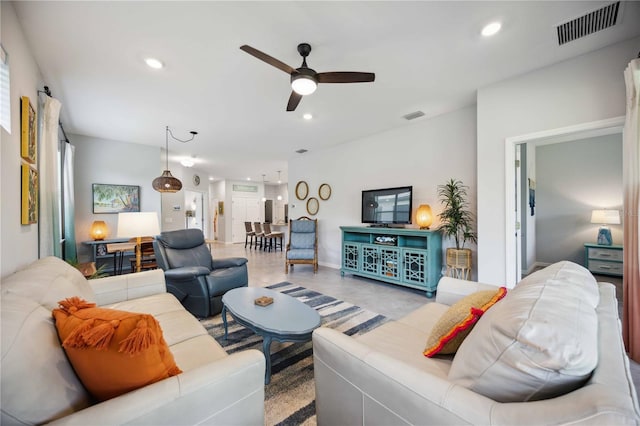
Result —
<svg viewBox="0 0 640 426"><path fill-rule="evenodd" d="M447 273L456 278L469 278L471 271L471 250L465 248L467 241L475 243L473 213L467 202L467 186L461 181L450 179L438 185L438 197L444 206L438 229L442 235L456 242L456 247L447 248Z"/></svg>

